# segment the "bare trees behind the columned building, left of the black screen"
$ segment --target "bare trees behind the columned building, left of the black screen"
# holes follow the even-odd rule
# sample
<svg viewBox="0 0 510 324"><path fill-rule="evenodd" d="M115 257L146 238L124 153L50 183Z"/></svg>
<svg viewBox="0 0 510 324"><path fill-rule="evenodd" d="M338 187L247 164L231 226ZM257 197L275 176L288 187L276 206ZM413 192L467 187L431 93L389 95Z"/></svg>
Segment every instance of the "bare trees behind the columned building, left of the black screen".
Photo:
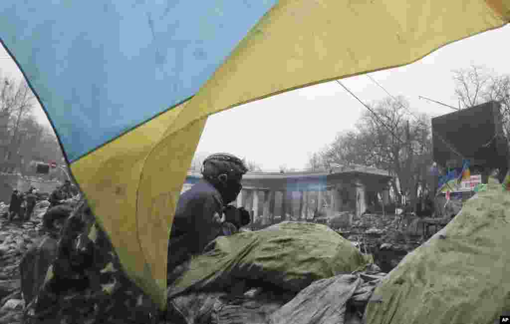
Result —
<svg viewBox="0 0 510 324"><path fill-rule="evenodd" d="M403 97L386 98L371 104L356 124L356 130L339 135L323 152L326 164L359 164L384 169L394 176L391 185L414 200L418 188L428 186L425 178L431 160L430 122L426 115L410 116ZM430 162L431 163L431 162Z"/></svg>

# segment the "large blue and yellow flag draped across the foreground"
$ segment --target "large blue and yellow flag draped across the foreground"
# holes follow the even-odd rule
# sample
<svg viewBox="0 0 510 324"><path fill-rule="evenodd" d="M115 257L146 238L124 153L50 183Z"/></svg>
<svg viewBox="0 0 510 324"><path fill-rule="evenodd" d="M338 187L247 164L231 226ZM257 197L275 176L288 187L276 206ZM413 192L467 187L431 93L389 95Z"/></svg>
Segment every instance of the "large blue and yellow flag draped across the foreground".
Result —
<svg viewBox="0 0 510 324"><path fill-rule="evenodd" d="M207 116L509 19L510 0L2 0L0 38L127 275L164 308L168 233Z"/></svg>

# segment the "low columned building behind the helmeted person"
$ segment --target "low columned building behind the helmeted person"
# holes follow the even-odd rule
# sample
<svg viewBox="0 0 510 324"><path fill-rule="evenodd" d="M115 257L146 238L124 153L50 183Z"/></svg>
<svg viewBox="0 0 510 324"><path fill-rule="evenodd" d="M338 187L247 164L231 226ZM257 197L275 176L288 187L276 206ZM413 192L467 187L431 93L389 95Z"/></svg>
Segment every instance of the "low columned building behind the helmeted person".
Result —
<svg viewBox="0 0 510 324"><path fill-rule="evenodd" d="M199 172L188 172L183 192L199 179ZM390 180L388 172L363 166L327 172L248 172L233 205L251 211L253 220L264 224L331 217L344 211L361 215L377 202L378 195L388 203Z"/></svg>

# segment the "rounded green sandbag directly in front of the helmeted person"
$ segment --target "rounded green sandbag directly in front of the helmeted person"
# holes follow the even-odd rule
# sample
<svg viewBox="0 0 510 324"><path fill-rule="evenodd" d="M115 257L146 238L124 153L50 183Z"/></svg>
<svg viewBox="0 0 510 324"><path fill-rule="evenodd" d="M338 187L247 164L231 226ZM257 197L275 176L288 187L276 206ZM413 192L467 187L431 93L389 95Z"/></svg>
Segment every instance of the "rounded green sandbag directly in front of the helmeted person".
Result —
<svg viewBox="0 0 510 324"><path fill-rule="evenodd" d="M219 237L193 258L168 289L224 289L242 280L258 280L298 292L313 281L349 273L368 261L354 245L324 225L282 222L256 232Z"/></svg>

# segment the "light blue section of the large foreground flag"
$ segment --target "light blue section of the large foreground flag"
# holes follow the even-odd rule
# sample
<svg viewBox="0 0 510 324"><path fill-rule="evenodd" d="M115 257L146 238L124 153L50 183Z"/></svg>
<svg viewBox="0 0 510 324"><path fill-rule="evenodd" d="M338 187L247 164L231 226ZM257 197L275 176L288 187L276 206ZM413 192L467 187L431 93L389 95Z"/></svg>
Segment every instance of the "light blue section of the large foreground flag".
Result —
<svg viewBox="0 0 510 324"><path fill-rule="evenodd" d="M185 101L277 0L0 1L70 161Z"/></svg>

